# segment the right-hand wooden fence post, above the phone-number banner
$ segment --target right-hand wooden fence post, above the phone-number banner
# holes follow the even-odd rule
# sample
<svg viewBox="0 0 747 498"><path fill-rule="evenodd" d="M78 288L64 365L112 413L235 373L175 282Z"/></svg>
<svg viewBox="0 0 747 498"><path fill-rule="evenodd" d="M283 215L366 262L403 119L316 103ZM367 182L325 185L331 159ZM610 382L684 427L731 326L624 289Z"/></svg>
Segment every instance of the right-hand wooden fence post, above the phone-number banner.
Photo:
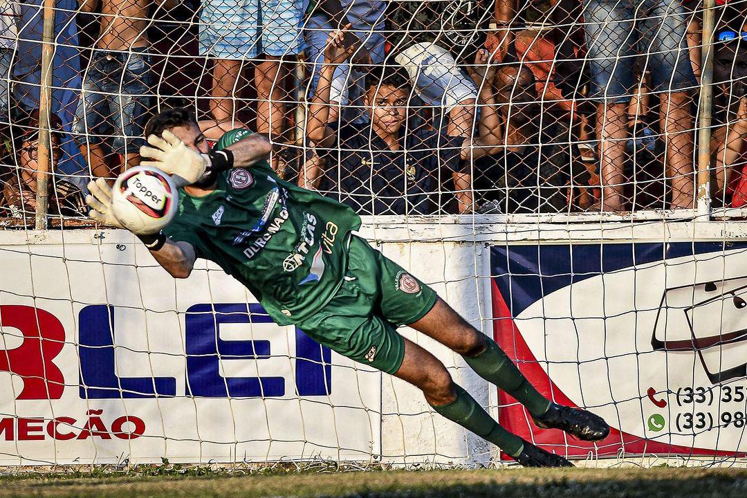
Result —
<svg viewBox="0 0 747 498"><path fill-rule="evenodd" d="M710 217L710 121L713 113L713 28L715 0L704 0L703 65L701 66L700 102L698 102L698 185L695 199L698 218Z"/></svg>

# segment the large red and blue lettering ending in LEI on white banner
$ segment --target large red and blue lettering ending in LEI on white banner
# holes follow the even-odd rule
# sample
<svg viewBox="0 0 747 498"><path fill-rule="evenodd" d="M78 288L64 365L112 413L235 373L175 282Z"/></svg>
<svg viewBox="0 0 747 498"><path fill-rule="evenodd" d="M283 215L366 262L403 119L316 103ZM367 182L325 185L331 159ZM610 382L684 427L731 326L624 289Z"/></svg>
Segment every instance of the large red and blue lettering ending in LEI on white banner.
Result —
<svg viewBox="0 0 747 498"><path fill-rule="evenodd" d="M25 305L0 305L3 327L18 329L20 346L0 350L0 372L16 374L23 388L16 399L60 399L66 382L63 370L77 371L78 393L82 399L155 398L156 396L255 397L284 396L282 376L224 377L220 363L261 361L271 358L270 340L223 340L225 323L271 323L258 303L202 303L185 314L185 390L176 391L174 377L126 377L117 375L114 358L116 314L108 305L89 305L78 314L79 365L55 363L65 340L62 323L49 311ZM2 333L0 329L0 333ZM294 330L296 350L295 391L298 396L327 396L332 393L332 352ZM287 339L282 338L286 344ZM60 367L63 367L61 370ZM7 401L13 393L0 395Z"/></svg>

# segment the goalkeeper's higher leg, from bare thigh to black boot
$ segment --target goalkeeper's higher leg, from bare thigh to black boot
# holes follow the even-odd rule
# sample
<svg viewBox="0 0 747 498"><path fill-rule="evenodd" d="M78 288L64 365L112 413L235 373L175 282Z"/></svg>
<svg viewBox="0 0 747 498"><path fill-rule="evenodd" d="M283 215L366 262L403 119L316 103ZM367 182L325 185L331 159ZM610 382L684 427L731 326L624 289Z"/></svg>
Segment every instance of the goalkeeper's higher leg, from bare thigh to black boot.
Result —
<svg viewBox="0 0 747 498"><path fill-rule="evenodd" d="M409 326L462 355L483 379L526 406L537 426L562 429L583 441L598 441L610 433L610 426L598 415L557 405L542 396L495 341L469 325L442 299Z"/></svg>

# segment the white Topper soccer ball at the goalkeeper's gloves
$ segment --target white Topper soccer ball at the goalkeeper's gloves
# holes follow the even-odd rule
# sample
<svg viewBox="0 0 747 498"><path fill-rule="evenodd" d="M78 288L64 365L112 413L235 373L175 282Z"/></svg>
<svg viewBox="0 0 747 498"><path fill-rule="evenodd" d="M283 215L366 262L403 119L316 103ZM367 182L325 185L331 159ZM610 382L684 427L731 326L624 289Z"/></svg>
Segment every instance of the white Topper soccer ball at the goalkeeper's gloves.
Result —
<svg viewBox="0 0 747 498"><path fill-rule="evenodd" d="M150 166L135 166L114 182L111 210L134 234L155 234L176 215L179 192L170 176Z"/></svg>

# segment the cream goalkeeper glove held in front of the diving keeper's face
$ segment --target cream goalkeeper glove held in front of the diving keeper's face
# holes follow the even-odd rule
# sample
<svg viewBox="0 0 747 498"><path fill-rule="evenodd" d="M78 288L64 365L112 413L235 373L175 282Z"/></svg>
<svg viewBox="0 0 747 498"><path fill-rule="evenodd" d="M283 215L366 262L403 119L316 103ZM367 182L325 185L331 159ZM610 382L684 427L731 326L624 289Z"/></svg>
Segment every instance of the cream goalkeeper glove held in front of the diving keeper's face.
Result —
<svg viewBox="0 0 747 498"><path fill-rule="evenodd" d="M152 161L143 161L140 166L152 166L172 175L177 187L195 183L211 166L208 155L193 151L169 130L164 130L161 137L151 135L148 143L152 147L140 147L140 155Z"/></svg>

